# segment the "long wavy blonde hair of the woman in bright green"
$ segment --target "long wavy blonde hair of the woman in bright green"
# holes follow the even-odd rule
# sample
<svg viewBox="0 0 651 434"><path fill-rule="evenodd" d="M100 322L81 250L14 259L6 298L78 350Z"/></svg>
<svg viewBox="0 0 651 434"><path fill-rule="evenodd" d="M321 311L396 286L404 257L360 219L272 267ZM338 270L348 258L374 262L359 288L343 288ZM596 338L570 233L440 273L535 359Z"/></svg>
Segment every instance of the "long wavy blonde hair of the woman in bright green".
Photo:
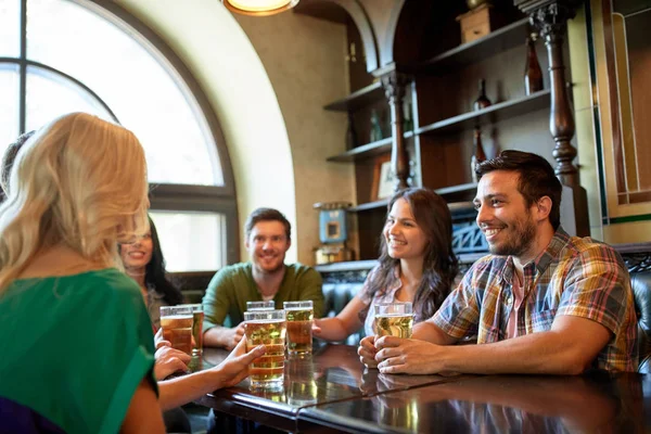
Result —
<svg viewBox="0 0 651 434"><path fill-rule="evenodd" d="M85 113L38 130L18 153L0 205L0 295L41 250L66 245L118 266L118 242L146 231L144 151L136 136Z"/></svg>

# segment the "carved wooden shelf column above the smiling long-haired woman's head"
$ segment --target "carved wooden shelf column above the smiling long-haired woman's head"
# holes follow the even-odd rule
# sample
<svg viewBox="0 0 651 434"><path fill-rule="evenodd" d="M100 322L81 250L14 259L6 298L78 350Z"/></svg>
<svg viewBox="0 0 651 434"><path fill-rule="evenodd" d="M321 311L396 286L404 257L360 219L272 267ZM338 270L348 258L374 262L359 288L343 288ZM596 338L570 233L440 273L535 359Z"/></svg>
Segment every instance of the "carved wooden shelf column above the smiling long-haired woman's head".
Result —
<svg viewBox="0 0 651 434"><path fill-rule="evenodd" d="M396 177L395 190L397 191L409 187L409 183L407 183L407 178L409 178L409 155L407 155L405 131L403 130L403 100L409 79L405 74L400 74L395 69L382 75L381 79L391 108L391 132L393 137L391 167Z"/></svg>

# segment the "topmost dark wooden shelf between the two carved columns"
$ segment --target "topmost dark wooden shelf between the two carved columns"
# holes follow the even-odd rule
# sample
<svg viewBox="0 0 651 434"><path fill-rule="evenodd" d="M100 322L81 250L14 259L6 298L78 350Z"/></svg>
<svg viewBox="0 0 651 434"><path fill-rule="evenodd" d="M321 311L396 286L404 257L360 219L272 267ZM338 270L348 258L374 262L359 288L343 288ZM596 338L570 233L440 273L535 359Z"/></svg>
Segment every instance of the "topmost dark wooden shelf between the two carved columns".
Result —
<svg viewBox="0 0 651 434"><path fill-rule="evenodd" d="M528 33L528 18L522 18L499 28L483 38L463 43L444 53L416 65L405 65L412 73L447 73L471 63L481 62L502 51L525 46Z"/></svg>

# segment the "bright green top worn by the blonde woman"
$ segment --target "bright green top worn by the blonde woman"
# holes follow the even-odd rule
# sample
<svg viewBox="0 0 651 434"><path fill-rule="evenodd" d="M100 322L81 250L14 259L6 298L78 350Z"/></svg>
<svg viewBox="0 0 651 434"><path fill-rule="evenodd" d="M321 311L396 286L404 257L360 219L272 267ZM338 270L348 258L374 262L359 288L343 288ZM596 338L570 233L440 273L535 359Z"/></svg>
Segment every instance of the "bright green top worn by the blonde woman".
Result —
<svg viewBox="0 0 651 434"><path fill-rule="evenodd" d="M0 397L67 433L117 433L142 379L157 391L142 294L117 269L16 280L0 324Z"/></svg>

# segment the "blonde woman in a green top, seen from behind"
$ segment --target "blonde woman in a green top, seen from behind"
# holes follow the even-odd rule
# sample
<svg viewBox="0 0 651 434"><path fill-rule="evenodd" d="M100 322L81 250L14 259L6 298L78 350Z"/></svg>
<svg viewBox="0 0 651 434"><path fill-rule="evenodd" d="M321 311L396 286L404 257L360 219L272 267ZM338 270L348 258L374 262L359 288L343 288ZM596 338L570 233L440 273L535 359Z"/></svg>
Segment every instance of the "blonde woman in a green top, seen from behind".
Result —
<svg viewBox="0 0 651 434"><path fill-rule="evenodd" d="M138 284L115 268L117 243L148 229L138 140L94 116L62 116L17 152L9 186L0 206L0 426L164 432L150 319ZM234 352L212 385L242 380L259 353Z"/></svg>

